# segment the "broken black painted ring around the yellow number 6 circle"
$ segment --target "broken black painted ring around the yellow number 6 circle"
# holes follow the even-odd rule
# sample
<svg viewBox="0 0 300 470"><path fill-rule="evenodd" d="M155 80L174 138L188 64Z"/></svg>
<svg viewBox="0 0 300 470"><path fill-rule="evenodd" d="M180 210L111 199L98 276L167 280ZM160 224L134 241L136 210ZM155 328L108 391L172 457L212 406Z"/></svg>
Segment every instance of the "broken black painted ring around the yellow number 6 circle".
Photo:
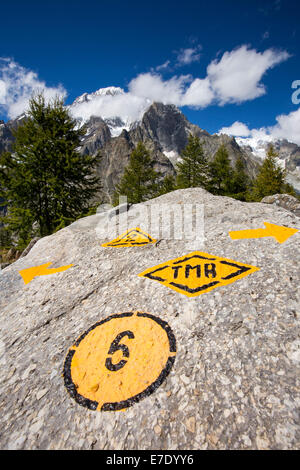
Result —
<svg viewBox="0 0 300 470"><path fill-rule="evenodd" d="M106 323L114 318L122 318L122 317L131 317L136 313L138 317L148 317L151 320L155 321L158 323L167 333L168 340L169 340L169 345L170 345L170 353L176 353L176 339L174 336L173 331L171 330L169 324L165 322L164 320L161 320L161 318L156 317L154 315L151 315L150 313L145 313L145 312L125 312L125 313L118 313L114 315L110 315L109 317L105 318L104 320L101 320L97 323L95 323L91 328L89 328L87 331L85 331L74 343L73 346L79 346L81 341L87 336L88 333L90 333L93 329L97 328L99 325L102 325L103 323ZM63 378L64 378L64 384L65 387L69 393L69 395L81 406L85 406L89 410L96 410L98 407L98 402L92 401L82 395L80 395L77 392L77 387L74 384L71 376L71 363L73 356L75 354L75 349L70 349L67 357L64 362L64 367L63 367ZM127 400L123 400L121 402L113 402L113 403L104 403L101 407L101 411L118 411L122 410L124 408L129 408L130 406L133 406L135 403L139 402L143 398L146 398L147 396L151 395L166 379L166 377L169 375L171 368L175 362L175 355L174 356L169 356L167 363L164 367L164 369L161 371L160 375L158 378L151 384L149 387L147 387L143 392L138 393L137 395L134 395L131 398L128 398Z"/></svg>

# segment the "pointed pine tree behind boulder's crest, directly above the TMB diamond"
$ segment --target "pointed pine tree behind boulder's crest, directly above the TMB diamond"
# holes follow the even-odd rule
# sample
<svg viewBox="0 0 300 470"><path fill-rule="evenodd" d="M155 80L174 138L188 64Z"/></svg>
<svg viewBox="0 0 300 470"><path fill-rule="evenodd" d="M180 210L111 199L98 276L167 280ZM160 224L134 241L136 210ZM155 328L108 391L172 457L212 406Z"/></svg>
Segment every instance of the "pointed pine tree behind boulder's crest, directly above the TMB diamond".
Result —
<svg viewBox="0 0 300 470"><path fill-rule="evenodd" d="M199 137L190 135L180 156L182 161L176 167L178 187L206 187L208 164Z"/></svg>

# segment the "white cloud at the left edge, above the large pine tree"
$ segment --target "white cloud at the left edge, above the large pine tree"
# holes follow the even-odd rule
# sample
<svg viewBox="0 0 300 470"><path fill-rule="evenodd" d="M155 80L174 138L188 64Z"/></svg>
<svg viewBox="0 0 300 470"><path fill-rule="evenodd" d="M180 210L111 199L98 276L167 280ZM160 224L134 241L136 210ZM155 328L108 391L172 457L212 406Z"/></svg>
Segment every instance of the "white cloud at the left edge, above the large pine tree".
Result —
<svg viewBox="0 0 300 470"><path fill-rule="evenodd" d="M0 110L11 119L28 109L33 93L43 92L46 101L65 97L62 85L47 87L35 72L25 69L13 59L0 58Z"/></svg>

